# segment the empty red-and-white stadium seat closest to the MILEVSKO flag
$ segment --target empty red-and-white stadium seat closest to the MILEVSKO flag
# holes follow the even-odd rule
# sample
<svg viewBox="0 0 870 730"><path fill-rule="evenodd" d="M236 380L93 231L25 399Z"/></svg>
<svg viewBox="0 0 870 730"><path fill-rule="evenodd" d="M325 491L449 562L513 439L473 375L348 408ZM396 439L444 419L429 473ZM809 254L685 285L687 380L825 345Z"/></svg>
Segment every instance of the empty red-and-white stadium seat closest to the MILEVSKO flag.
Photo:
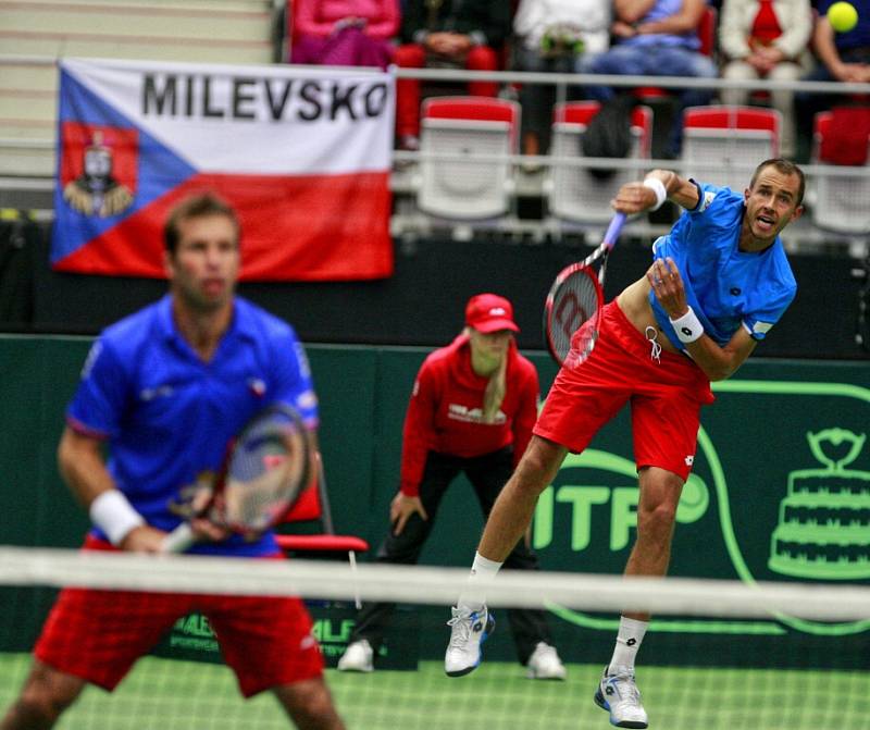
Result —
<svg viewBox="0 0 870 730"><path fill-rule="evenodd" d="M486 97L431 98L423 102L421 163L414 181L420 210L449 220L485 220L507 214L519 151L520 106ZM434 159L449 154L452 159ZM504 160L461 159L474 154ZM459 156L459 158L457 158Z"/></svg>

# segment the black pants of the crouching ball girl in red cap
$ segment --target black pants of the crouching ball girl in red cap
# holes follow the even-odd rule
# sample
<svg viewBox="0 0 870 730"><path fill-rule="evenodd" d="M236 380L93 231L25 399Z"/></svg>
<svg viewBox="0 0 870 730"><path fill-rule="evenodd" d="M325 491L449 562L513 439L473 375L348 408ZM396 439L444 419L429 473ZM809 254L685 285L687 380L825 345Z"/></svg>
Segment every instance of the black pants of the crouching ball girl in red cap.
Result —
<svg viewBox="0 0 870 730"><path fill-rule="evenodd" d="M414 514L406 523L401 534L394 535L390 529L377 548L377 562L417 564L423 545L432 532L442 498L447 493L450 483L463 471L474 486L484 517L488 518L498 493L513 471L512 449L505 448L471 459L430 451L420 483L420 499L428 515L428 520ZM525 545L525 541L521 540L505 560L505 568L537 570L537 556ZM350 641L365 639L377 651L395 606L394 603L364 604L357 617L357 626ZM521 664L529 660L539 641L551 643L543 610L510 609L508 610L508 620Z"/></svg>

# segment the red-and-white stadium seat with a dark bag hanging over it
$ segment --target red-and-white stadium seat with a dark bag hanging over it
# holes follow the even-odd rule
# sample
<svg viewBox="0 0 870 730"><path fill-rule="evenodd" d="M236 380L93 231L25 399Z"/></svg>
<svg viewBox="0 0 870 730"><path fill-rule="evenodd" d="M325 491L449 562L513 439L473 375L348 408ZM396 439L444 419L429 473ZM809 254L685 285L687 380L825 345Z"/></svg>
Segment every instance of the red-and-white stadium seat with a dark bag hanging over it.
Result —
<svg viewBox="0 0 870 730"><path fill-rule="evenodd" d="M606 223L613 214L610 200L620 186L643 177L644 170L622 169L600 180L586 168L562 163L564 160L583 158L581 139L599 108L597 101L569 101L554 108L551 161L544 191L550 214L558 219L575 223ZM649 159L652 112L648 107L635 107L631 132L630 157Z"/></svg>

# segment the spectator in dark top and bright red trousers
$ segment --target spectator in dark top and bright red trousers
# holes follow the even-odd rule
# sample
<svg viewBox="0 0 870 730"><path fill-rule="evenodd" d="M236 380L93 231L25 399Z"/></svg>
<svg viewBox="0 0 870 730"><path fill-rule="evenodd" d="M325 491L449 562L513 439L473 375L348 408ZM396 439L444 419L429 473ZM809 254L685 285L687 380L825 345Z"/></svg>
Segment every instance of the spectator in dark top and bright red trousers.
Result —
<svg viewBox="0 0 870 730"><path fill-rule="evenodd" d="M506 0L408 0L401 23L402 45L396 64L496 71L510 32ZM494 97L496 82L470 82L472 96ZM420 148L420 82L401 78L396 85L396 134L399 149Z"/></svg>

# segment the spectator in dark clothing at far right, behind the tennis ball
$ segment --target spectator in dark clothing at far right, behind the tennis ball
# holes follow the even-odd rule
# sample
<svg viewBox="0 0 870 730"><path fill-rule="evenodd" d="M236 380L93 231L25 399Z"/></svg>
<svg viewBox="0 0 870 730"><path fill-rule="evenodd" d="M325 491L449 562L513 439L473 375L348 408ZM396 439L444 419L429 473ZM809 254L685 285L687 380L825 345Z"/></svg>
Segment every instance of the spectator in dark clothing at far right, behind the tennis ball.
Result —
<svg viewBox="0 0 870 730"><path fill-rule="evenodd" d="M870 83L870 0L850 0L858 11L858 23L848 33L836 33L828 21L828 9L835 0L819 0L812 45L819 65L804 76L808 82ZM835 94L799 91L795 95L797 116L797 159L807 161L812 140L812 122L820 111L844 100Z"/></svg>

